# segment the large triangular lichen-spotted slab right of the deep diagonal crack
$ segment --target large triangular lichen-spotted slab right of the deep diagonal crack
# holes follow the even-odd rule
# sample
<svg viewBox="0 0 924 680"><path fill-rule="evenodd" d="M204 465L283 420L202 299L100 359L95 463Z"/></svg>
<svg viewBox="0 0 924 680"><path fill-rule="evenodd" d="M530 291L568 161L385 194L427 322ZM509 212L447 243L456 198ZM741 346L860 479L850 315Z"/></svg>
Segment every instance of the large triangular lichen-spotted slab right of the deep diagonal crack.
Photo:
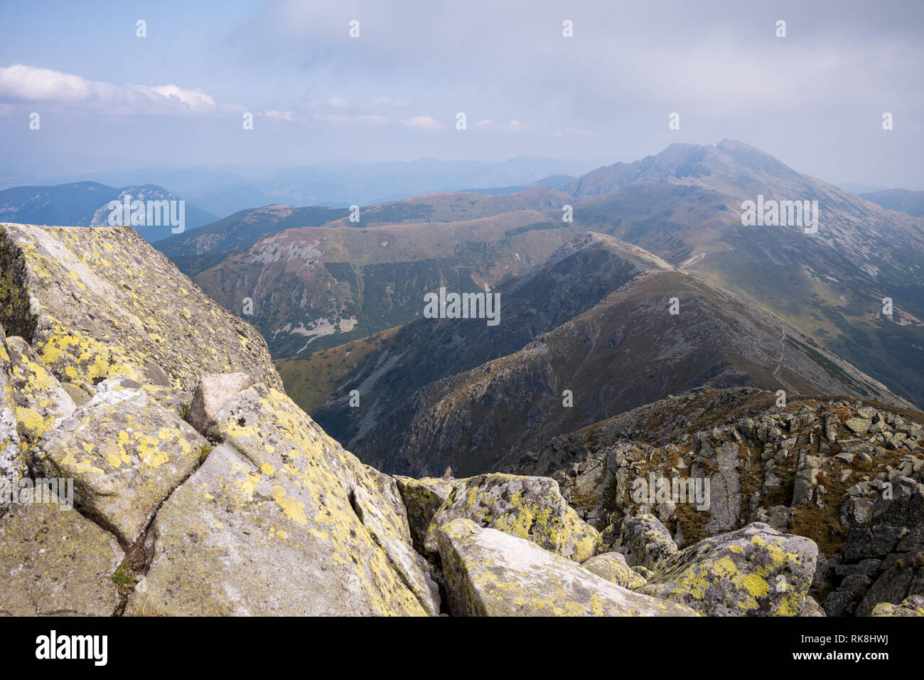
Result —
<svg viewBox="0 0 924 680"><path fill-rule="evenodd" d="M157 513L128 612L432 611L428 575L376 481L284 393L238 392L210 434L225 446Z"/></svg>

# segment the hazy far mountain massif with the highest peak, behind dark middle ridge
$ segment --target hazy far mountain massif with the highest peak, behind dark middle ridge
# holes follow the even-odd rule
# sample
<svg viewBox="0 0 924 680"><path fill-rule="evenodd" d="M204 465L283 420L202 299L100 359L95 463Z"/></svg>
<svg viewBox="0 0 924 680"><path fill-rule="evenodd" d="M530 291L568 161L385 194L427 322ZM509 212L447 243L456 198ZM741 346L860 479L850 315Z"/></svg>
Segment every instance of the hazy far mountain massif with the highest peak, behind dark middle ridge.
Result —
<svg viewBox="0 0 924 680"><path fill-rule="evenodd" d="M592 170L563 189L429 194L363 207L359 223L340 217L320 224L322 214L307 221L291 208L263 208L229 218L220 239L188 234L161 247L227 308L239 311L241 301L253 300L249 320L274 356L298 359L418 318L423 292L493 288L541 265L577 234L599 232L778 315L924 403L919 218L733 141L672 144L635 163ZM818 232L742 226L743 202L758 196L817 201ZM572 222L562 220L566 204ZM299 219L305 226L286 229ZM208 253L215 248L227 252ZM881 314L886 297L894 302L891 316ZM306 375L297 363L287 366Z"/></svg>

